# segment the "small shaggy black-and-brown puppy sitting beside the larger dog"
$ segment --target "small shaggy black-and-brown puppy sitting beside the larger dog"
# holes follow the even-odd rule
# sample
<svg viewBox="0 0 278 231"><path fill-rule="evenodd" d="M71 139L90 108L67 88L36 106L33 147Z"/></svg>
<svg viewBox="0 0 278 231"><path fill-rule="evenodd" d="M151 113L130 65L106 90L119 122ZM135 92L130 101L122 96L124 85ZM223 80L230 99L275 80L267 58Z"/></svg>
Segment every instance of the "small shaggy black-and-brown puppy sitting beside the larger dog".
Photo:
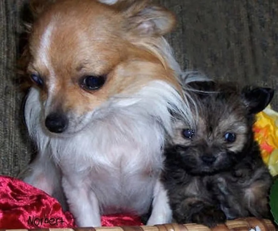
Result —
<svg viewBox="0 0 278 231"><path fill-rule="evenodd" d="M163 182L173 219L210 227L226 219L268 217L272 182L254 141L254 115L273 97L261 87L196 82L192 99L198 113L190 127L176 119L166 148Z"/></svg>

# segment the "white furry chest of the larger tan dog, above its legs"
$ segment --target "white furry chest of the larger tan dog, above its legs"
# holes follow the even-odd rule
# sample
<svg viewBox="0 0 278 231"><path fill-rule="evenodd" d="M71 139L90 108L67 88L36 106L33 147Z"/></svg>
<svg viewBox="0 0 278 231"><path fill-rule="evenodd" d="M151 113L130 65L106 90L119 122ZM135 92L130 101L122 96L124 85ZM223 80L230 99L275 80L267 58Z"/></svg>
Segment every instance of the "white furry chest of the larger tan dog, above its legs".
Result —
<svg viewBox="0 0 278 231"><path fill-rule="evenodd" d="M150 207L162 168L162 134L154 119L138 124L119 113L92 122L72 138L50 140L50 148L60 163L65 191L93 192L102 214L143 214ZM78 194L73 193L72 199Z"/></svg>

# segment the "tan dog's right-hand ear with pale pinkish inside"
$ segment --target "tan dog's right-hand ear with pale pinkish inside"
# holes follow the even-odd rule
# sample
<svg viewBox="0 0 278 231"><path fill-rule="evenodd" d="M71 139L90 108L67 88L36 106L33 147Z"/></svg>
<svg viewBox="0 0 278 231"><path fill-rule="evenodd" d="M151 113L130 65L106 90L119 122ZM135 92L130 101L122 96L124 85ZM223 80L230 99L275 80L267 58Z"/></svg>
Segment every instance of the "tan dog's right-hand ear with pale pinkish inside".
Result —
<svg viewBox="0 0 278 231"><path fill-rule="evenodd" d="M176 17L166 8L149 5L147 1L141 0L128 2L132 4L123 11L123 15L126 18L124 29L129 36L162 36L174 28Z"/></svg>

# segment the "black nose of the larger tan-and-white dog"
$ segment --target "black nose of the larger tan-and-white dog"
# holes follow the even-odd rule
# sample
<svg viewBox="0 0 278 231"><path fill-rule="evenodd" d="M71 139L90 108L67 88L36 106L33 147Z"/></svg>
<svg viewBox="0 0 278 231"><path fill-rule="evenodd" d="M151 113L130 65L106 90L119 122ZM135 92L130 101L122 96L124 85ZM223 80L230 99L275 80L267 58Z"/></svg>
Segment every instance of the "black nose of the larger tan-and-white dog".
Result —
<svg viewBox="0 0 278 231"><path fill-rule="evenodd" d="M64 114L50 113L45 119L45 126L50 132L62 133L68 126L68 119Z"/></svg>

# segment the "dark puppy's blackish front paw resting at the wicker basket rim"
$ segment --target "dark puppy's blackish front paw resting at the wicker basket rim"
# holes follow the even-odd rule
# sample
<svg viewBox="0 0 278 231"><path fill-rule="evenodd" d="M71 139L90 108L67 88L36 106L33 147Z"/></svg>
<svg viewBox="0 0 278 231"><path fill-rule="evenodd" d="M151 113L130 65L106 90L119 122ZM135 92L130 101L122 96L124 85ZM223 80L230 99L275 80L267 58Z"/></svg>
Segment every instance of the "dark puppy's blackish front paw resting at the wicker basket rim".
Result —
<svg viewBox="0 0 278 231"><path fill-rule="evenodd" d="M206 206L198 213L192 214L192 222L202 224L210 228L217 224L225 223L226 215L222 210L213 206Z"/></svg>

